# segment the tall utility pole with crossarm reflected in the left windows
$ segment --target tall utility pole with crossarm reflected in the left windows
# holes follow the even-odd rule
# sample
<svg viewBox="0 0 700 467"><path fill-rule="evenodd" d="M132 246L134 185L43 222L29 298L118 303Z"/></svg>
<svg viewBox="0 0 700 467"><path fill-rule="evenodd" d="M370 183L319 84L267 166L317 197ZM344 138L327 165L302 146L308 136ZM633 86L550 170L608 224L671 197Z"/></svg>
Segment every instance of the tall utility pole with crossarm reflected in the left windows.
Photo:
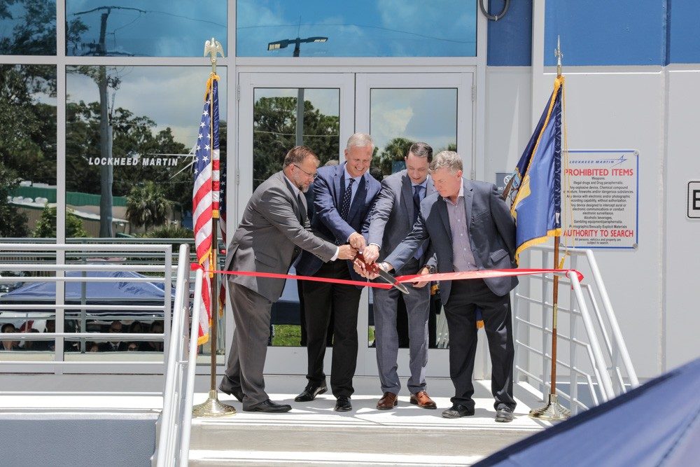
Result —
<svg viewBox="0 0 700 467"><path fill-rule="evenodd" d="M141 13L146 11L138 8L125 8L118 6L99 6L90 11L80 11L77 15L92 13L93 11L104 10L105 13L100 15L99 22L99 41L94 55L104 57L107 55L107 46L105 44L105 36L107 34L107 17L111 13L112 8L120 10L136 10ZM109 77L107 76L107 68L100 65L97 70L97 87L99 88L99 152L103 160L106 162L112 157L112 124L107 102L107 86L109 85ZM99 236L113 237L112 232L112 183L114 181L113 165L103 164L99 166Z"/></svg>

